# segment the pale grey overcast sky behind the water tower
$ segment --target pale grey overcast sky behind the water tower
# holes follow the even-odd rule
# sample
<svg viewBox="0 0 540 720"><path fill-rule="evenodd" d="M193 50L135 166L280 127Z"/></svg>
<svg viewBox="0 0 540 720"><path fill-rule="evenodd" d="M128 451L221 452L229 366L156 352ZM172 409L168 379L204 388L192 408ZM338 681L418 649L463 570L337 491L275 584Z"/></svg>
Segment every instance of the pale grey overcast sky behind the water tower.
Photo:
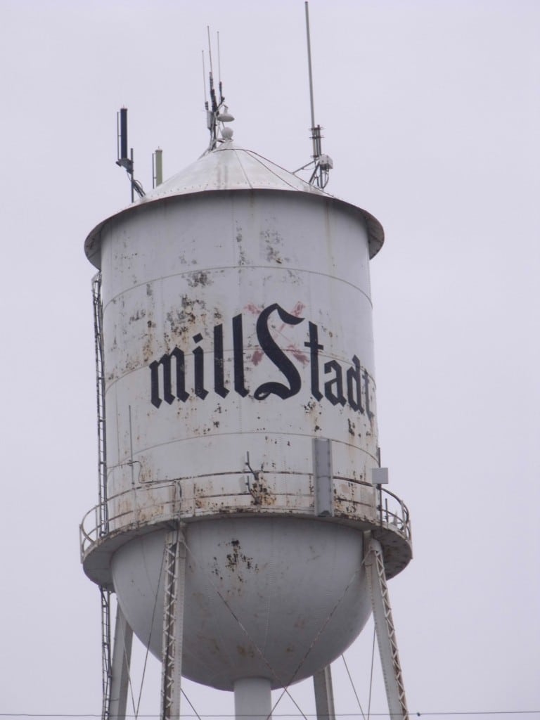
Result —
<svg viewBox="0 0 540 720"><path fill-rule="evenodd" d="M390 582L409 708L539 717L540 3L312 0L310 20L328 192L387 238L377 397L413 519ZM310 156L304 22L302 0L0 0L0 714L101 707L99 593L78 557L97 501L83 243L129 202L117 109L145 188L158 145L165 176L194 161L210 24L236 143L293 170ZM346 653L364 709L372 633ZM157 714L155 661L147 676L140 712ZM333 677L338 714L359 713L343 660ZM199 714L233 711L230 693L184 689ZM313 712L309 683L291 693Z"/></svg>

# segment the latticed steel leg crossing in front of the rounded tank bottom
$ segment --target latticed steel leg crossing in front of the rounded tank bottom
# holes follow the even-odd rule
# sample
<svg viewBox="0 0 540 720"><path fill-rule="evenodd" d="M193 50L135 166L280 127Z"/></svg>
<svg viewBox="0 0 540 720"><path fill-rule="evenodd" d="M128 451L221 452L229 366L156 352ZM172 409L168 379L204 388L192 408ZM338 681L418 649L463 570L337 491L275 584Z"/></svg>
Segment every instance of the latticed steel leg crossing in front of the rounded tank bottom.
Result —
<svg viewBox="0 0 540 720"><path fill-rule="evenodd" d="M178 720L182 675L186 545L182 528L165 539L165 600L161 661L161 720Z"/></svg>

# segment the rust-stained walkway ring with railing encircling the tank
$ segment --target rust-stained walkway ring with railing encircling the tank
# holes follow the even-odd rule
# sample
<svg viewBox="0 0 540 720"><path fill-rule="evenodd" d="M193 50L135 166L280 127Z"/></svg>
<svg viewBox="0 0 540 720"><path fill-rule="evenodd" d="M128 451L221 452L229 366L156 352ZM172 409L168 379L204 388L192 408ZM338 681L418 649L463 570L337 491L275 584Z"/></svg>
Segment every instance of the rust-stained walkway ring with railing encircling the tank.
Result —
<svg viewBox="0 0 540 720"><path fill-rule="evenodd" d="M293 479L297 477L293 476ZM100 525L104 513L100 515L99 505L89 510L80 528L81 561L89 577L100 585L110 586L110 571L104 576L103 568L109 562L112 552L129 541L131 536L140 536L140 531L145 528L151 531L179 519L191 523L197 519L217 520L227 516L272 515L296 516L299 519L314 516L315 497L311 477L306 478L308 492L303 496L303 509L298 492L258 503L249 492L247 478L243 475L218 476L215 480L219 483L221 494L217 495L207 495L212 485L208 484L207 478L204 480L198 486L197 480L193 478L179 478L159 488L139 485L109 498L111 529L105 535ZM222 489L228 482L230 492L225 494ZM279 482L282 484L283 479ZM387 577L393 577L403 570L412 557L410 516L405 503L383 488L381 505L379 491L366 482L345 482L334 477L333 486L336 516L332 521L372 530L384 549ZM233 492L234 488L238 492ZM111 508L115 508L114 512ZM125 536L123 540L122 535ZM100 562L100 556L106 559ZM95 574L95 567L99 568L98 575Z"/></svg>

